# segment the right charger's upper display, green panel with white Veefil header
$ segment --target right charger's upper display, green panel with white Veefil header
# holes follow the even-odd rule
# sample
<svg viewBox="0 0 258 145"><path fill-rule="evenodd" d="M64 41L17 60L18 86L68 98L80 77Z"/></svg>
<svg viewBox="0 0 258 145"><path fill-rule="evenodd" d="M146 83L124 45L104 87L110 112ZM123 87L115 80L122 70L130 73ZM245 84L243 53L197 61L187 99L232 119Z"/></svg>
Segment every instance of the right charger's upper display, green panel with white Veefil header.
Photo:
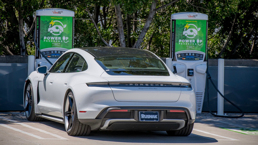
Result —
<svg viewBox="0 0 258 145"><path fill-rule="evenodd" d="M182 12L171 15L171 58L183 50L206 52L208 15Z"/></svg>

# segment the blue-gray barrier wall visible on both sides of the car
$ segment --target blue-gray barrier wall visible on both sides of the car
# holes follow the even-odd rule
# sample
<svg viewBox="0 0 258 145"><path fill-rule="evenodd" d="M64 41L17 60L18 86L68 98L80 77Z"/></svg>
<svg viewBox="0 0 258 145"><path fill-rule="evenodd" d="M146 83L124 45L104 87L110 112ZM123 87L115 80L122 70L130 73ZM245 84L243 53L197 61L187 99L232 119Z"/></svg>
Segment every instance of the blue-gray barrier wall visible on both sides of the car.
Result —
<svg viewBox="0 0 258 145"><path fill-rule="evenodd" d="M163 59L164 60L164 59ZM164 60L165 61L165 60ZM217 59L209 59L209 73L217 86ZM224 95L244 112L258 112L258 60L226 59ZM28 73L28 56L0 55L0 111L23 111L23 87ZM217 92L209 83L209 103L217 111ZM203 103L207 107L207 83ZM224 100L224 112L239 112Z"/></svg>

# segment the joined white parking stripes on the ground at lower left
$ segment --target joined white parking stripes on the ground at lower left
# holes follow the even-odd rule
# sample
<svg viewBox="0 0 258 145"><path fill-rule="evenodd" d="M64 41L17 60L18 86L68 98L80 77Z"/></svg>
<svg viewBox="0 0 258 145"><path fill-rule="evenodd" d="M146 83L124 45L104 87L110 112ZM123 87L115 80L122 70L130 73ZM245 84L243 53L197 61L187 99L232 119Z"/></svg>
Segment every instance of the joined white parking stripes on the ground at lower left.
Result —
<svg viewBox="0 0 258 145"><path fill-rule="evenodd" d="M67 139L67 138L63 138L62 136L56 135L56 134L54 134L54 133L50 133L50 132L41 130L41 129L36 128L36 127L32 127L32 126L29 126L29 125L24 124L24 123L19 123L19 122L15 121L15 120L11 120L11 119L4 118L4 117L1 117L1 116L0 116L0 118L5 119L5 120L8 120L8 121L10 121L10 122L14 122L14 123L20 124L20 125L22 125L22 126L25 126L25 127L28 127L28 128L34 129L34 130L37 130L37 131L40 131L40 132L43 132L43 133L46 133L46 134L49 134L49 135L52 135L52 136L55 136L55 137L57 137L58 139L61 139L61 140L69 140L69 139ZM2 125L2 126L4 126L4 127L8 126L8 125L5 125L5 124L0 124L0 125ZM19 129L17 129L17 128L14 128L14 129L13 129L13 127L10 127L10 126L8 126L7 128L10 128L10 129L12 129L12 130L16 129L15 131L18 131L18 130L19 130ZM22 130L19 130L19 132L24 133L24 131L22 131ZM25 132L25 134L28 134L28 135L29 135L29 134L31 134L31 133ZM37 136L37 135L32 134L32 135L30 135L30 136L35 137L35 136ZM38 139L45 139L45 138L42 138L42 137L40 137L40 136L38 136L38 137L39 137ZM37 137L35 137L35 138L37 138Z"/></svg>

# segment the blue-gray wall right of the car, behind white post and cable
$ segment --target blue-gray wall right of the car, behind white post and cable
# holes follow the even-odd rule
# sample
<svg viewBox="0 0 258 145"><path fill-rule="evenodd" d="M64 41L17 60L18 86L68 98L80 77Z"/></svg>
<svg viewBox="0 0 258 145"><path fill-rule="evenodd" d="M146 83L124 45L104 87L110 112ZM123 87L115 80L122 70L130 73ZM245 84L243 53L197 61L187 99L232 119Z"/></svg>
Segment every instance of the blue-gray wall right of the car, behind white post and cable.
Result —
<svg viewBox="0 0 258 145"><path fill-rule="evenodd" d="M218 60L210 59L209 74L217 87ZM258 60L225 59L224 96L240 107L244 112L258 112ZM203 112L209 111L207 106L207 83L203 103ZM209 81L209 107L217 111L217 91ZM224 100L224 112L239 110Z"/></svg>

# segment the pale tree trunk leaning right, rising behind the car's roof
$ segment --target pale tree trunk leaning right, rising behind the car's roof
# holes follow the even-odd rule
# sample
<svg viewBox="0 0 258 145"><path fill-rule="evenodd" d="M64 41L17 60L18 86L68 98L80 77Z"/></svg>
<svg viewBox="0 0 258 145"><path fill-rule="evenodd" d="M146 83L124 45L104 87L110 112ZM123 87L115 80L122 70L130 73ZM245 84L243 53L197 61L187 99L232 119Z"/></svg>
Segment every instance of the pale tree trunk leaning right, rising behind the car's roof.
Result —
<svg viewBox="0 0 258 145"><path fill-rule="evenodd" d="M156 12L156 4L157 4L157 0L152 1L147 21L146 21L145 25L143 26L142 31L141 31L137 41L135 42L133 48L139 48L140 47L144 36L146 35L147 31L149 30L150 23L153 19L153 16L154 16L155 12Z"/></svg>

